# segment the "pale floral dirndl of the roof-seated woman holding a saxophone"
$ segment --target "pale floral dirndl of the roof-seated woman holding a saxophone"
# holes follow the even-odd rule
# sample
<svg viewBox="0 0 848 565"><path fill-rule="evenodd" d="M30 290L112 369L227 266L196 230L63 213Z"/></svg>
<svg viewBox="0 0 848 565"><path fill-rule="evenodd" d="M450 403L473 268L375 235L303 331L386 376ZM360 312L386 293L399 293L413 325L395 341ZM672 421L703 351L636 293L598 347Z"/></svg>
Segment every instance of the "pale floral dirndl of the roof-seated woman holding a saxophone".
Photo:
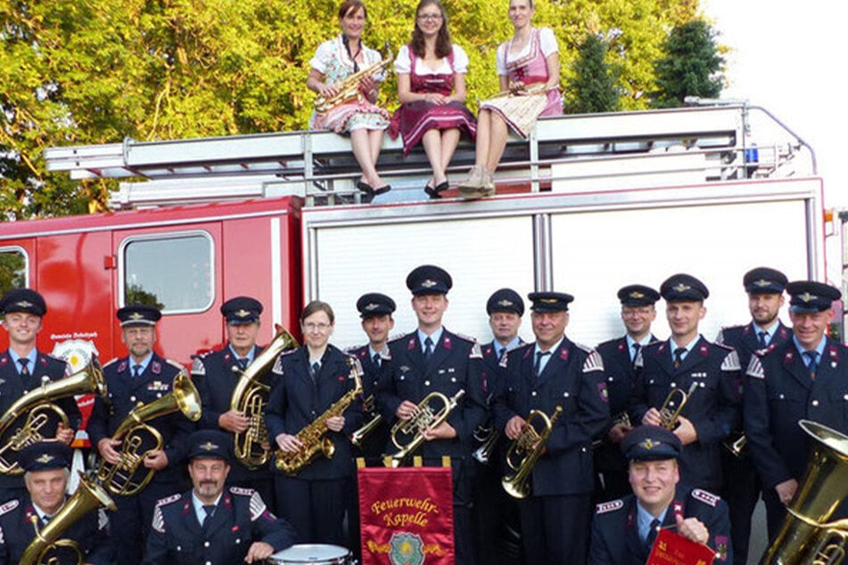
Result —
<svg viewBox="0 0 848 565"><path fill-rule="evenodd" d="M365 53L365 63L359 70L365 69L381 60L380 53L374 49L362 46ZM340 35L318 45L315 56L309 61L312 69L325 76L327 84L335 84L356 72L357 65L350 58ZM383 77L376 77L383 80ZM345 102L334 108L318 113L312 111L309 119L309 129L329 129L337 134L348 133L354 129L385 129L389 127L389 112L364 97Z"/></svg>

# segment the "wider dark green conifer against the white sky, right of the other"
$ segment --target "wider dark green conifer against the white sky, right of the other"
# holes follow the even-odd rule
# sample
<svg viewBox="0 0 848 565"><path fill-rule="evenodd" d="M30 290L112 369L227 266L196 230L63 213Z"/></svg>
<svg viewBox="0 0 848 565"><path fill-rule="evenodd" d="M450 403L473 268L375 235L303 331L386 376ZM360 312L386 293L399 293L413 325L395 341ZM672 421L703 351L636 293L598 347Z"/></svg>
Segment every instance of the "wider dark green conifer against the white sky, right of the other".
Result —
<svg viewBox="0 0 848 565"><path fill-rule="evenodd" d="M656 61L655 107L682 106L687 96L719 97L724 59L709 24L692 20L672 29L664 49Z"/></svg>

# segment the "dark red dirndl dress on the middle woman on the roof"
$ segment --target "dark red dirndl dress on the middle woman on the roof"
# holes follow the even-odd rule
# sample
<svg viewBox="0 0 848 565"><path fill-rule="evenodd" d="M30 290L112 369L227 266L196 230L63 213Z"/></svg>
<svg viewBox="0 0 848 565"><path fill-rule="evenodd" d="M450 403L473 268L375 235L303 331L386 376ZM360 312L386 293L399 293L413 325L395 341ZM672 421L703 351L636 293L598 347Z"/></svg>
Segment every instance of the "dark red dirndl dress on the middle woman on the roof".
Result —
<svg viewBox="0 0 848 565"><path fill-rule="evenodd" d="M454 46L457 49L457 46ZM449 73L429 73L419 75L416 73L416 62L418 57L408 49L411 60L409 71L410 88L414 93L439 93L449 96L454 88L454 52L451 51L448 64ZM400 135L403 140L403 153L408 155L409 151L421 142L424 134L431 129L451 129L457 127L461 133L469 135L473 140L477 133L477 120L462 102L448 102L447 104L434 104L424 100L401 104L391 117L389 135L396 139Z"/></svg>

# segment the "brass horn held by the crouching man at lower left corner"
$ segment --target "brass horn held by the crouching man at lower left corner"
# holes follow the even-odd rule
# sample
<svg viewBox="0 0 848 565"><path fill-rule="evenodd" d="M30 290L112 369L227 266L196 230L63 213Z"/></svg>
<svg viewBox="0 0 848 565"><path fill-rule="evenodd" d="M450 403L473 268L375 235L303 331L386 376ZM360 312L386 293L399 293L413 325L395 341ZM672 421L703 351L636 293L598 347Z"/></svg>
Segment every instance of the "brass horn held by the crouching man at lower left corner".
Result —
<svg viewBox="0 0 848 565"><path fill-rule="evenodd" d="M77 563L82 563L84 556L77 543L70 539L59 538L88 512L98 508L116 510L115 503L112 502L109 493L93 480L88 479L82 472L79 472L79 486L76 492L62 506L62 510L56 512L49 524L39 530L37 528L38 517L33 514L33 527L36 528L36 536L24 550L18 565L51 565L57 563L59 561L52 557L50 553L62 548L77 553Z"/></svg>

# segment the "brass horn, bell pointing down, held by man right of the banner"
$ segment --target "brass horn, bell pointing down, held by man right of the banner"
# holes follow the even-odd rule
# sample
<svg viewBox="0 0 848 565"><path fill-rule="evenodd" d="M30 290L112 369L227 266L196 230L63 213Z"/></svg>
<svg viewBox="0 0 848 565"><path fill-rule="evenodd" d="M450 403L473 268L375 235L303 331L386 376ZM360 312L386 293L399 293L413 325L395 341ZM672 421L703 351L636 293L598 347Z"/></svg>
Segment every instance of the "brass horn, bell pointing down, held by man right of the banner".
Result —
<svg viewBox="0 0 848 565"><path fill-rule="evenodd" d="M513 440L506 450L506 464L515 471L514 475L504 477L500 484L503 485L506 494L515 498L526 498L530 495L530 478L533 467L539 461L539 457L545 452L547 438L554 430L554 422L563 412L562 406L556 406L554 414L548 418L547 414L540 410L532 410L524 423L521 434ZM542 422L541 432L533 426L533 421L539 419ZM514 457L520 457L517 462Z"/></svg>

